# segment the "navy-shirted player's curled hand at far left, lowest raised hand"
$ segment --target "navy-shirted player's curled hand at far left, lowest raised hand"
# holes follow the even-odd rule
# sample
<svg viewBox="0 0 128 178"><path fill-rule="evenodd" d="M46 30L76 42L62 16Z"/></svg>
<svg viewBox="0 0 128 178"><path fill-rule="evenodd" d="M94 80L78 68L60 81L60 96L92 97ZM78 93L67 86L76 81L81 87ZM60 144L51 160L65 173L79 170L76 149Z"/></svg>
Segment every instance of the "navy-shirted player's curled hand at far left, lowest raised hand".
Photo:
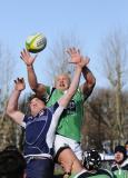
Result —
<svg viewBox="0 0 128 178"><path fill-rule="evenodd" d="M14 89L18 91L22 91L24 88L26 88L24 79L17 78L17 80L14 80Z"/></svg>

